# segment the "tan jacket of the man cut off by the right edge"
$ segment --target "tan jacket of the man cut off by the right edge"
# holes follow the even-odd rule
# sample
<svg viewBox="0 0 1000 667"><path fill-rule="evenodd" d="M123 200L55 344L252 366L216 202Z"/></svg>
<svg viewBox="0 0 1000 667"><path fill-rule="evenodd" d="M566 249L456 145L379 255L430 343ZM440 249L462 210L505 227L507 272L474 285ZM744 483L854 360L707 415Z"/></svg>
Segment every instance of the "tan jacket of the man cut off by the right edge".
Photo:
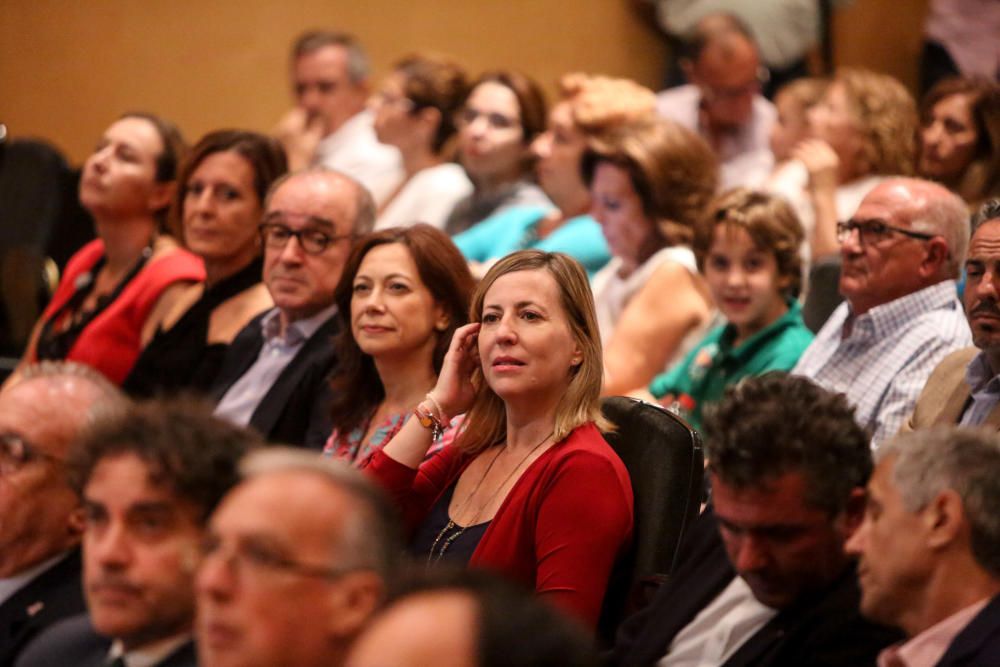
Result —
<svg viewBox="0 0 1000 667"><path fill-rule="evenodd" d="M958 423L971 400L969 385L965 382L965 369L977 354L978 348L962 348L949 354L937 365L927 378L913 414L901 432ZM986 416L983 426L1000 429L1000 404Z"/></svg>

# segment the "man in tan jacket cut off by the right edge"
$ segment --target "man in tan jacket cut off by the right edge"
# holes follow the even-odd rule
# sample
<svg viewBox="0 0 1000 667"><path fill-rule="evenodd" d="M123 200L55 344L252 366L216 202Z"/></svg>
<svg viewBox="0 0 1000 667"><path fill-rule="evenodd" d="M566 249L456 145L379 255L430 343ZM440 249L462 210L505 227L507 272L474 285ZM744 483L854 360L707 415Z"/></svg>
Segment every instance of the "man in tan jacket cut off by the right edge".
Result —
<svg viewBox="0 0 1000 667"><path fill-rule="evenodd" d="M934 369L904 431L932 424L1000 429L1000 199L972 220L965 271L963 301L975 347L953 352Z"/></svg>

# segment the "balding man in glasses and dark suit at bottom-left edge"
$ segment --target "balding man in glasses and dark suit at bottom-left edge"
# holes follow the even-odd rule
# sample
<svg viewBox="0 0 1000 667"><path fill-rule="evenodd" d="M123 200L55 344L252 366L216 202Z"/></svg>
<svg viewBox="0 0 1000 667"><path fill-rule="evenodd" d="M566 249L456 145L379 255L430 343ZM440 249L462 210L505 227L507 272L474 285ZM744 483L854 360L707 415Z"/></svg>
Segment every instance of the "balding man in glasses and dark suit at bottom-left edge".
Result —
<svg viewBox="0 0 1000 667"><path fill-rule="evenodd" d="M83 611L79 500L66 456L102 411L126 404L103 375L70 362L29 366L0 392L0 666Z"/></svg>

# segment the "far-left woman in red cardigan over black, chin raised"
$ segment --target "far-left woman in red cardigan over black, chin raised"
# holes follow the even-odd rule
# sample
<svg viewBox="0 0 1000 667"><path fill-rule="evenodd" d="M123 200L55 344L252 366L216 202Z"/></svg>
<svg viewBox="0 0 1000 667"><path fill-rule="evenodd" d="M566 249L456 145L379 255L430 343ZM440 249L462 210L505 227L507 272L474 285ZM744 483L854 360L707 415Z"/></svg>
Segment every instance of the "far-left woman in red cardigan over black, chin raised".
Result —
<svg viewBox="0 0 1000 667"><path fill-rule="evenodd" d="M80 178L80 203L97 239L69 261L42 313L23 363L77 361L120 384L201 260L164 232L185 150L177 129L130 113L105 130Z"/></svg>

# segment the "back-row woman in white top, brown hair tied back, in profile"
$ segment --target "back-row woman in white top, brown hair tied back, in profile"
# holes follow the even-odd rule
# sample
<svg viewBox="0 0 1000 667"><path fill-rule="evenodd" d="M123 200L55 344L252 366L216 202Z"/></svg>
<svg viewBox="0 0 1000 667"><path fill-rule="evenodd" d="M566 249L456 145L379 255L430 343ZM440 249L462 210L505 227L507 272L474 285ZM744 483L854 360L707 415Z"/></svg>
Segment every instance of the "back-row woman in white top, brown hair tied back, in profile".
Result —
<svg viewBox="0 0 1000 667"><path fill-rule="evenodd" d="M450 162L456 114L467 93L458 65L430 56L397 63L373 98L375 135L403 158L403 183L383 202L376 229L416 222L444 228L455 204L472 193L461 166Z"/></svg>

